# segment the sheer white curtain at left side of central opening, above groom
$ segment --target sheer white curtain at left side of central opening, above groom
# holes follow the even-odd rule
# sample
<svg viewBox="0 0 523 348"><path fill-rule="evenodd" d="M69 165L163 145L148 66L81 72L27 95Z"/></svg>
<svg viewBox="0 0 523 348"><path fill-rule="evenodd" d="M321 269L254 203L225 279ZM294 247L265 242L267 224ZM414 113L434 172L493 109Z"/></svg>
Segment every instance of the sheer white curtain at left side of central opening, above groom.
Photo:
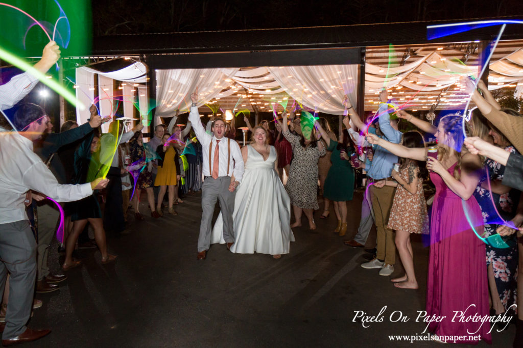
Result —
<svg viewBox="0 0 523 348"><path fill-rule="evenodd" d="M156 116L170 117L179 110L189 110L191 93L198 88L199 104L217 97L230 86L225 82L238 71L235 69L176 69L156 70Z"/></svg>

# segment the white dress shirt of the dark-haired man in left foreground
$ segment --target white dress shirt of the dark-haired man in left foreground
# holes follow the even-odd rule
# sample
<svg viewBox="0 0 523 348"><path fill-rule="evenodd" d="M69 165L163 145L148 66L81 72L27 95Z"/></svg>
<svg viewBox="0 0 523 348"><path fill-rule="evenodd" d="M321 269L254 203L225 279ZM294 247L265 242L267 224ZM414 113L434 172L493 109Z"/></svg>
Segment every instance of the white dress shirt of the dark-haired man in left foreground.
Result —
<svg viewBox="0 0 523 348"><path fill-rule="evenodd" d="M90 183L60 185L36 153L33 144L16 132L0 136L0 224L27 220L24 200L30 189L59 202L93 194Z"/></svg>

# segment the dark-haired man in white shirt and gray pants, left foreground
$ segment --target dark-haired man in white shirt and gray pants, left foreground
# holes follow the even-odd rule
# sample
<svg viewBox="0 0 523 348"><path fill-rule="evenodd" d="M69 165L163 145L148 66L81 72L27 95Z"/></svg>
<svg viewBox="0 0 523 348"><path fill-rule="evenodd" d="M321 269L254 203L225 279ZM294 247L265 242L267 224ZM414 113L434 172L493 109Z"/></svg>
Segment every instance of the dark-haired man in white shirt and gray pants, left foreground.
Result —
<svg viewBox="0 0 523 348"><path fill-rule="evenodd" d="M59 202L88 197L94 189L107 185L107 179L83 185L60 185L46 164L33 152L33 141L41 137L50 122L40 113L15 119L20 133L0 136L0 288L10 273L10 293L4 346L37 340L50 330L32 330L29 320L36 280L36 242L27 220L24 200L28 190L35 190ZM44 197L33 195L33 199Z"/></svg>

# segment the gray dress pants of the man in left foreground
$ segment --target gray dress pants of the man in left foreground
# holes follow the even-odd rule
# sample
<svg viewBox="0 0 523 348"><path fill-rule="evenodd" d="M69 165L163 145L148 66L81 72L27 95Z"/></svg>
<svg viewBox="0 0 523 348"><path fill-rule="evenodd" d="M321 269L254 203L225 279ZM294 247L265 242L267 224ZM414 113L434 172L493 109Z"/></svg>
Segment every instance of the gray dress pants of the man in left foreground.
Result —
<svg viewBox="0 0 523 348"><path fill-rule="evenodd" d="M5 316L3 340L24 333L31 315L36 279L36 241L29 221L0 224L0 288L3 290L7 272L9 302Z"/></svg>

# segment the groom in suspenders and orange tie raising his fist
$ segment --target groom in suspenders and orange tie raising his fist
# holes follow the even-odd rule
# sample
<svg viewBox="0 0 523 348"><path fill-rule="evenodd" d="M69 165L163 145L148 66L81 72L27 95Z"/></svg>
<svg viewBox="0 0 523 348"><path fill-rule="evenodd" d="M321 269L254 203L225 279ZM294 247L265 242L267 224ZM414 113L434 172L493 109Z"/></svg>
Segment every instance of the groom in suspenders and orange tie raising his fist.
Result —
<svg viewBox="0 0 523 348"><path fill-rule="evenodd" d="M198 260L207 256L211 243L211 220L214 213L216 200L220 200L223 217L223 239L227 249L234 244L232 213L234 211L234 190L242 181L244 164L240 146L234 140L224 138L225 122L215 119L212 123L214 136L206 133L200 122L198 113L198 89L191 94L192 107L189 121L195 130L196 137L203 148L203 175L205 179L202 186L200 236L198 238ZM233 161L234 160L234 161ZM232 177L234 181L232 181Z"/></svg>

